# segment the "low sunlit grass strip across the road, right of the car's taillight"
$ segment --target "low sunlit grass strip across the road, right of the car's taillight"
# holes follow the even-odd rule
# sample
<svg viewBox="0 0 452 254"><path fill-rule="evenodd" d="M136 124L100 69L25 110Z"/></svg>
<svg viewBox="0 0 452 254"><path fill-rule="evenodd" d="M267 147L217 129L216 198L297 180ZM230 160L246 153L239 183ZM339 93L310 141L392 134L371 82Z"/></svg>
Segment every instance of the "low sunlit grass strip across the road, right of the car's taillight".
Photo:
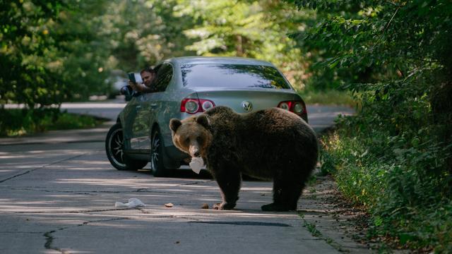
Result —
<svg viewBox="0 0 452 254"><path fill-rule="evenodd" d="M338 90L299 92L307 104L335 104L355 107L356 102L350 93Z"/></svg>

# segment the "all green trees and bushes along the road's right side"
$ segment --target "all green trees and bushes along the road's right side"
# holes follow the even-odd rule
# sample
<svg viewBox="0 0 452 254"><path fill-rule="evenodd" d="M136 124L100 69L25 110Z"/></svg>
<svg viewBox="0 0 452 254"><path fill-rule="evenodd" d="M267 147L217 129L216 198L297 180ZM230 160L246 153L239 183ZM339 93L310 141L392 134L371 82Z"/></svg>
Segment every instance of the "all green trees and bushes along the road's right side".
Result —
<svg viewBox="0 0 452 254"><path fill-rule="evenodd" d="M451 250L450 1L290 2L316 9L315 22L292 34L315 62L309 83L359 102L324 139L323 171L369 207L375 234Z"/></svg>

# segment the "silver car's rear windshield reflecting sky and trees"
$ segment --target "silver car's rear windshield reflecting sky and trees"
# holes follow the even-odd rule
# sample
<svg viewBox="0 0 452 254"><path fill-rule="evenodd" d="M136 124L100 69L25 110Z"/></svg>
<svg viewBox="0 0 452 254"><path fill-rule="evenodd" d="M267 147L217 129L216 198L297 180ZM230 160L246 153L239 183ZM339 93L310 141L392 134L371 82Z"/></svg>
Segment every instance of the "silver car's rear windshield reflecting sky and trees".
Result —
<svg viewBox="0 0 452 254"><path fill-rule="evenodd" d="M185 64L184 86L290 89L290 85L272 66L245 64Z"/></svg>

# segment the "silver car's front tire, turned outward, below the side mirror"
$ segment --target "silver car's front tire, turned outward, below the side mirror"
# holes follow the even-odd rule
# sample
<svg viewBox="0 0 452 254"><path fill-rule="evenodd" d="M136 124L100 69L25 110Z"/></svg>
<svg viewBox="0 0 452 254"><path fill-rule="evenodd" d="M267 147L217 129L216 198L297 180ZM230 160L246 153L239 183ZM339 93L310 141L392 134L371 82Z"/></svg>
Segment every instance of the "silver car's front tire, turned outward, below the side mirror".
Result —
<svg viewBox="0 0 452 254"><path fill-rule="evenodd" d="M105 152L109 162L118 170L138 170L148 164L146 161L130 159L124 154L124 135L121 123L116 123L107 133Z"/></svg>

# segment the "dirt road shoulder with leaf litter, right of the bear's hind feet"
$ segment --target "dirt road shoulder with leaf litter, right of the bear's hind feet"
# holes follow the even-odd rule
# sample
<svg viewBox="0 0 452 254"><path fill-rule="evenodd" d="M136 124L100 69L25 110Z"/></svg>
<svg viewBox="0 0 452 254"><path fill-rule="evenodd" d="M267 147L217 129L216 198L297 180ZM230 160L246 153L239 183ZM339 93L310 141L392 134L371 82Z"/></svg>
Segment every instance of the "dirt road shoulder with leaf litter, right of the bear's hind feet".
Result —
<svg viewBox="0 0 452 254"><path fill-rule="evenodd" d="M376 253L377 243L367 241L368 215L346 202L332 176L316 176L299 200L303 226L344 253Z"/></svg>

